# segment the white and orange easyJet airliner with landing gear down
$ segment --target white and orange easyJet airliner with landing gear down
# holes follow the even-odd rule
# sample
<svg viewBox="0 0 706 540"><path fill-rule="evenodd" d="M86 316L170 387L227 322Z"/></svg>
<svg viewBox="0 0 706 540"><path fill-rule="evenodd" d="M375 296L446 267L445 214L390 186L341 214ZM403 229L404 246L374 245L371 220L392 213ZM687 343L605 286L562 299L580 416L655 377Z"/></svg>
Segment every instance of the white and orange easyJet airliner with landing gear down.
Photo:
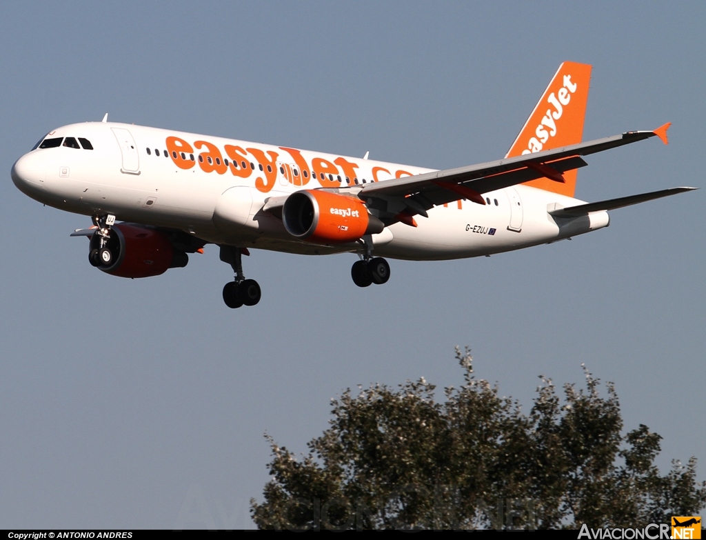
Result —
<svg viewBox="0 0 706 540"><path fill-rule="evenodd" d="M656 136L582 142L592 66L564 62L501 160L435 170L169 129L85 122L56 128L13 165L14 184L45 205L87 215L89 261L119 277L181 268L206 244L234 280L229 308L261 299L246 279L251 248L356 253L359 287L390 278L385 258L449 260L570 239L607 227L608 210L696 188L587 203L574 198L584 157ZM117 220L120 220L119 222Z"/></svg>

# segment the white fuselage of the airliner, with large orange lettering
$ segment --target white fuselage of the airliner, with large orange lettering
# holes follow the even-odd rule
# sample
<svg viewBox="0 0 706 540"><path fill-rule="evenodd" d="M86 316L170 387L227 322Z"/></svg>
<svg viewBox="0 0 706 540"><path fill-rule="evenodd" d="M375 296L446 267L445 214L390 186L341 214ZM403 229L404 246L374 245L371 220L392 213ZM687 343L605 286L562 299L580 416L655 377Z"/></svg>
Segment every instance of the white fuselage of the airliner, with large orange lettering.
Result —
<svg viewBox="0 0 706 540"><path fill-rule="evenodd" d="M181 229L214 244L289 253L335 253L357 247L294 239L280 219L263 211L269 198L432 170L108 122L71 124L47 137L85 138L93 150L37 148L20 157L13 181L41 203L83 215L112 214L121 221ZM182 157L177 150L184 149ZM604 211L571 219L552 217L548 210L582 201L530 186L483 196L489 204L459 200L432 208L429 217L415 216L417 227L398 222L373 235L376 256L441 260L489 255L609 223Z"/></svg>

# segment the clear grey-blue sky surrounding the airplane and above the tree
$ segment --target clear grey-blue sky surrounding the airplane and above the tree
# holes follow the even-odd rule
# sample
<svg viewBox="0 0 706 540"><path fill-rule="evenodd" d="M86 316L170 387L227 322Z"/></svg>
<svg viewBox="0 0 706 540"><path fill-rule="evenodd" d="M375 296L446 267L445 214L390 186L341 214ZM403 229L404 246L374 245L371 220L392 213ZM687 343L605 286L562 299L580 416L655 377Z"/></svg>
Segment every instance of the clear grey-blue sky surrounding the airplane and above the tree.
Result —
<svg viewBox="0 0 706 540"><path fill-rule="evenodd" d="M1 526L249 527L265 431L304 451L347 387L458 385L457 344L526 409L537 376L580 384L585 362L626 427L664 436L663 470L695 455L706 478L704 191L551 246L392 260L369 289L352 255L253 251L263 299L231 311L214 246L161 277L104 275L68 236L88 218L9 176L50 129L105 112L424 167L493 160L572 60L594 66L586 140L673 122L667 147L591 156L578 197L703 187L705 23L698 2L2 4Z"/></svg>

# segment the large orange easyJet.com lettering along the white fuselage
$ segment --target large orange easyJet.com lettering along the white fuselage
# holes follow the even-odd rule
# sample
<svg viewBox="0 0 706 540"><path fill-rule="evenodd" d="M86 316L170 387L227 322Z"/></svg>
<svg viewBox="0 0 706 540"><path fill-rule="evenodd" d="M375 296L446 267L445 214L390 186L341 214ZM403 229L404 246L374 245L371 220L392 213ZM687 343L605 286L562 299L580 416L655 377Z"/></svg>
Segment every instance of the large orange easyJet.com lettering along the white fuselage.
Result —
<svg viewBox="0 0 706 540"><path fill-rule="evenodd" d="M191 169L198 163L198 167L203 172L217 174L230 172L240 178L255 175L255 187L263 193L267 193L275 186L278 172L280 178L285 179L288 184L306 186L313 179L324 188L337 188L342 184L353 185L361 176L357 170L359 165L349 162L344 157L337 157L333 162L323 157L313 157L309 163L296 148L280 146L279 150L289 155L280 157L280 153L273 150L264 152L260 148L241 148L234 145L225 145L221 152L220 148L207 140L196 140L191 144L179 137L167 137L165 142L169 156L180 169ZM196 155L197 150L203 151ZM283 163L284 161L292 162L293 167ZM369 181L376 182L383 179L378 177L381 172L392 177L387 169L373 167ZM401 176L412 176L412 173L404 170L395 172L395 178Z"/></svg>

